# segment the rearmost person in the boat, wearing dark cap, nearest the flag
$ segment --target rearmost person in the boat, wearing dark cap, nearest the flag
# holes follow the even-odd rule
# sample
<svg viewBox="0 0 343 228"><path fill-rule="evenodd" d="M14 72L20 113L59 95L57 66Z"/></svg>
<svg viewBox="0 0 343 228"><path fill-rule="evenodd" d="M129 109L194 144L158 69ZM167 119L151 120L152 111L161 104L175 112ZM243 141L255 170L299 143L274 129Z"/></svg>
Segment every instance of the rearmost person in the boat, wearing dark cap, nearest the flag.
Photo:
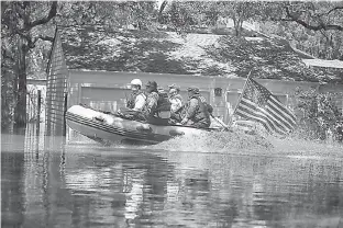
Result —
<svg viewBox="0 0 343 228"><path fill-rule="evenodd" d="M181 124L197 128L208 128L211 125L211 119L206 99L200 94L197 87L190 87L187 91L188 102L185 105L185 116Z"/></svg>

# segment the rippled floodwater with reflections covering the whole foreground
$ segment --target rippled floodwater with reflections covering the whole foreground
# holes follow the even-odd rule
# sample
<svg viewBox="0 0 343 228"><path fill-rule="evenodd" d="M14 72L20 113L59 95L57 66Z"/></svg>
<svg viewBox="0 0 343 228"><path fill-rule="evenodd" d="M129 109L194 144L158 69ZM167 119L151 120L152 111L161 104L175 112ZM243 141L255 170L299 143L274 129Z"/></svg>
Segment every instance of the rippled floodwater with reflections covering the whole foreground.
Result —
<svg viewBox="0 0 343 228"><path fill-rule="evenodd" d="M343 228L342 147L206 140L2 135L1 227Z"/></svg>

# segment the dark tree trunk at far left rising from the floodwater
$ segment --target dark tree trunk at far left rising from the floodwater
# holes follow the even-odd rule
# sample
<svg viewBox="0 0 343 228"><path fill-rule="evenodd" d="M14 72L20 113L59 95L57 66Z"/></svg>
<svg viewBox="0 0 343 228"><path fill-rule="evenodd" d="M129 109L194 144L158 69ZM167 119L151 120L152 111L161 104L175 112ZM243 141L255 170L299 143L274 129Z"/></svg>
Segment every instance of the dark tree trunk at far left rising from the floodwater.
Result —
<svg viewBox="0 0 343 228"><path fill-rule="evenodd" d="M19 38L18 45L18 95L14 109L14 126L26 126L26 45Z"/></svg>

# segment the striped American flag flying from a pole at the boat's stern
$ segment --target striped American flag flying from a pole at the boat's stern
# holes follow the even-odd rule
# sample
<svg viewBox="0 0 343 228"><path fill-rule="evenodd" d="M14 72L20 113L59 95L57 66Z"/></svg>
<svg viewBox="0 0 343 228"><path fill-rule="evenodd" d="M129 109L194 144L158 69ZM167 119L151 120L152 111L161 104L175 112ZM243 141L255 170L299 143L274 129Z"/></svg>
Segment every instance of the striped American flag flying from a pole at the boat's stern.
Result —
<svg viewBox="0 0 343 228"><path fill-rule="evenodd" d="M291 132L297 124L296 116L276 96L250 78L235 114L261 123L268 133L280 135Z"/></svg>

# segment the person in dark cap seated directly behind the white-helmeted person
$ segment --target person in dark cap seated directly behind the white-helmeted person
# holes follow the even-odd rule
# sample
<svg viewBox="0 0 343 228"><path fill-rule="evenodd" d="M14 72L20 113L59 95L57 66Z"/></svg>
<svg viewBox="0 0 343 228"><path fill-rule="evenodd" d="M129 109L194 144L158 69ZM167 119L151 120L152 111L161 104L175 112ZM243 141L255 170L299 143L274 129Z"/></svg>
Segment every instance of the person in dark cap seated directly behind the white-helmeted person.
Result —
<svg viewBox="0 0 343 228"><path fill-rule="evenodd" d="M158 91L156 81L148 81L145 84L146 88L146 103L143 107L143 113L145 118L153 117L156 114L157 103L158 103Z"/></svg>

